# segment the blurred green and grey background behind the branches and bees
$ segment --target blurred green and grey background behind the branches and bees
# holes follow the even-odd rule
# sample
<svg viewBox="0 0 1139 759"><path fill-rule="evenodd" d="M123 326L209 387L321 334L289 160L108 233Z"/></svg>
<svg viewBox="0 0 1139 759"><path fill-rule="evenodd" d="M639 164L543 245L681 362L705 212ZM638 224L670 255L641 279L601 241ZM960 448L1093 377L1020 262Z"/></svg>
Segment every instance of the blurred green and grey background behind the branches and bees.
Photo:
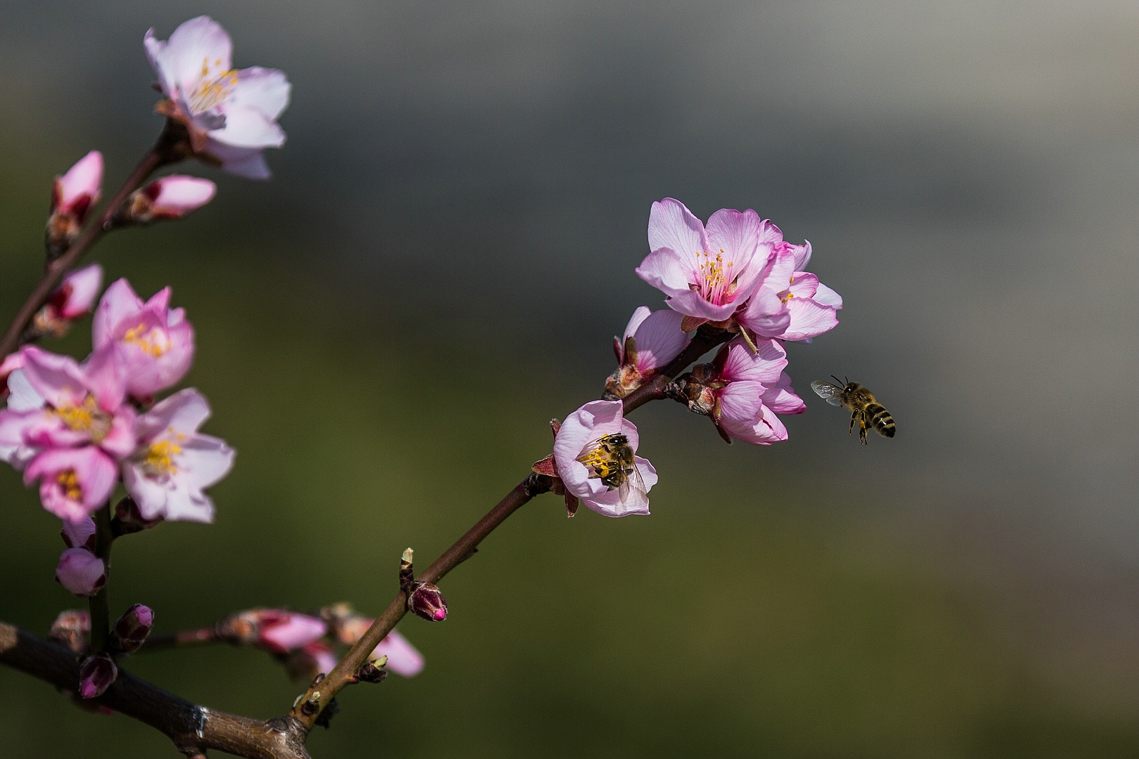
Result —
<svg viewBox="0 0 1139 759"><path fill-rule="evenodd" d="M813 396L788 443L634 416L653 515L543 496L400 629L316 757L1139 756L1139 14L1129 3L59 2L0 11L0 313L41 267L50 180L108 188L159 129L141 48L208 13L295 84L265 184L95 250L197 329L187 385L238 451L213 526L115 547L158 632L254 605L377 612L597 397L658 292L653 200L754 207L846 298L800 393L869 385L866 449ZM7 319L8 316L3 316ZM48 347L82 356L87 323ZM0 619L44 633L58 522L0 472ZM337 563L312 556L336 546ZM255 717L300 687L229 647L137 655ZM5 756L174 756L0 669Z"/></svg>

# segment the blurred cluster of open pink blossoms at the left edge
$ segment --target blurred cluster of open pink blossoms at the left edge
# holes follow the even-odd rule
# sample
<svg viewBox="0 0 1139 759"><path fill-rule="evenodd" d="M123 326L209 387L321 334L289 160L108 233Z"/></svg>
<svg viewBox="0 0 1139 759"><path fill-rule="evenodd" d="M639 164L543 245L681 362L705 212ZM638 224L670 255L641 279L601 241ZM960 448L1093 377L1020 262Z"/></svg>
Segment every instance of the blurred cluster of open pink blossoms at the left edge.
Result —
<svg viewBox="0 0 1139 759"><path fill-rule="evenodd" d="M88 311L98 266L76 272L49 303L59 319ZM95 280L95 287L90 287ZM83 287L69 287L73 282ZM8 405L0 411L0 459L39 480L43 508L64 520L68 545L59 579L79 595L99 589L101 561L90 555L90 518L121 482L142 520L213 519L203 489L229 471L233 451L198 432L206 399L187 388L157 403L194 358L194 329L170 307L170 288L144 302L126 280L107 288L95 311L93 350L82 363L26 345L8 356Z"/></svg>

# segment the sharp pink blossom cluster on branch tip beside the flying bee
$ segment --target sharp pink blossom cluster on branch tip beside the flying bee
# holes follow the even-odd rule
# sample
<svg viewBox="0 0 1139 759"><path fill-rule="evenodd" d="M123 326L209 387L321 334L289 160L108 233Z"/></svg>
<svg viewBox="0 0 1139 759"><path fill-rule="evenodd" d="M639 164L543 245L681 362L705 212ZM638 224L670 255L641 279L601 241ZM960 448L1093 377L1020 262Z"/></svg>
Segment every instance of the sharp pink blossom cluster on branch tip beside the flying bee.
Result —
<svg viewBox="0 0 1139 759"><path fill-rule="evenodd" d="M621 399L677 360L691 344L689 333L722 335L722 346L661 391L708 416L729 443L770 445L787 439L779 414L805 410L784 371L784 343L810 341L838 323L842 298L804 271L810 242L787 242L754 211L724 208L705 225L665 198L653 204L648 241L637 273L665 294L669 310L633 313L614 338L618 365L606 381L607 399L557 426L554 453L534 464L556 479L571 514L579 501L607 517L648 513L657 475L634 455L637 427L623 418Z"/></svg>

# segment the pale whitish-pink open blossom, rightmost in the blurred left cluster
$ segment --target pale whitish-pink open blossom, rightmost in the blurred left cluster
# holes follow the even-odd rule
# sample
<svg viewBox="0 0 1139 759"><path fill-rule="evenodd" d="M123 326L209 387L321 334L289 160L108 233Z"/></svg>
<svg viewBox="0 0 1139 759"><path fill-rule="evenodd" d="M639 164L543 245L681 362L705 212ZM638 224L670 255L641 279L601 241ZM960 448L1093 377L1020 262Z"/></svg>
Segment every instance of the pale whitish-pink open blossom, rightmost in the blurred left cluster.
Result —
<svg viewBox="0 0 1139 759"><path fill-rule="evenodd" d="M139 448L123 462L123 485L144 519L213 521L213 501L202 490L229 472L233 449L198 432L208 416L210 405L194 388L139 416Z"/></svg>

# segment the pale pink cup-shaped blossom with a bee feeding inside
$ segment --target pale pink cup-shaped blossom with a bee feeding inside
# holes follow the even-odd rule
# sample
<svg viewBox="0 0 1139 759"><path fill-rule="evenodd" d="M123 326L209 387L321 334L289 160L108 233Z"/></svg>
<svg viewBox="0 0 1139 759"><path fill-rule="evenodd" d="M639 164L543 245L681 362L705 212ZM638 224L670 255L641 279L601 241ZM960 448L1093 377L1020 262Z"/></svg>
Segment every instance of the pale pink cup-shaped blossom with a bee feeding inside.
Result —
<svg viewBox="0 0 1139 759"><path fill-rule="evenodd" d="M647 514L648 492L657 481L656 470L647 459L633 457L637 473L626 475L629 487L611 487L601 481L605 468L599 461L606 457L603 438L615 435L623 435L626 445L637 451L637 427L624 419L620 401L592 401L566 416L554 438L558 477L566 493L599 514ZM609 464L611 470L614 467Z"/></svg>

